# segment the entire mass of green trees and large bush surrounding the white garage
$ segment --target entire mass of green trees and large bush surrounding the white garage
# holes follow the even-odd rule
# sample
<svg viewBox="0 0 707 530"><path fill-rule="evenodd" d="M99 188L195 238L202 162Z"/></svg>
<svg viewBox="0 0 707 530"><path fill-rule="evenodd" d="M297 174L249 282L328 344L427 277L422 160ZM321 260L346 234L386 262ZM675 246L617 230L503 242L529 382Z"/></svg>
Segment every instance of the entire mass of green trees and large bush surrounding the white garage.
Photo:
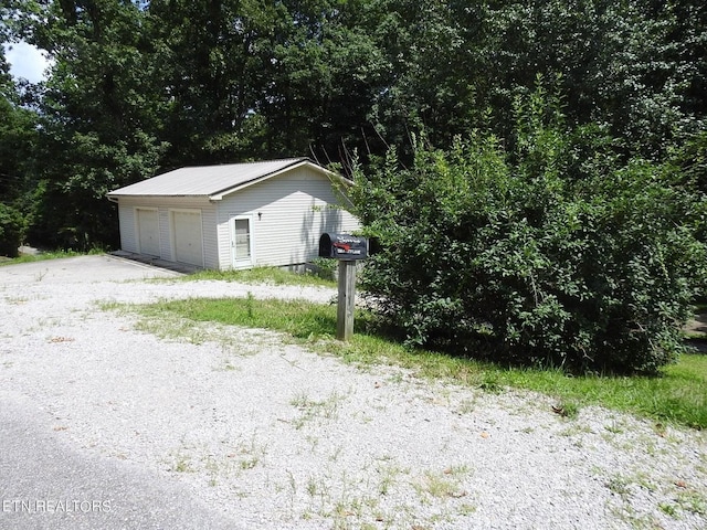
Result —
<svg viewBox="0 0 707 530"><path fill-rule="evenodd" d="M704 1L6 0L0 17L0 41L52 59L31 84L0 47L0 254L115 246L106 193L177 167L308 156L357 179L365 230L391 242L367 285L409 341L672 358L707 235Z"/></svg>

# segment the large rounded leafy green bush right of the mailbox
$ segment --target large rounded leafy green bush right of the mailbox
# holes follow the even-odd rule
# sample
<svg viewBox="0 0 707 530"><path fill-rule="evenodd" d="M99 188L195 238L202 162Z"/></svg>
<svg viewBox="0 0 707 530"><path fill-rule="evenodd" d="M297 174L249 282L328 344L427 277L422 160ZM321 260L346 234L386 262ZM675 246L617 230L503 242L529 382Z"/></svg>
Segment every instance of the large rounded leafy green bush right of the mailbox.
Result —
<svg viewBox="0 0 707 530"><path fill-rule="evenodd" d="M415 146L410 169L391 151L358 171L356 213L382 245L362 289L409 344L656 371L704 277L704 204L672 167L619 163L599 128L564 130L547 99L520 102L510 152L474 134L449 152Z"/></svg>

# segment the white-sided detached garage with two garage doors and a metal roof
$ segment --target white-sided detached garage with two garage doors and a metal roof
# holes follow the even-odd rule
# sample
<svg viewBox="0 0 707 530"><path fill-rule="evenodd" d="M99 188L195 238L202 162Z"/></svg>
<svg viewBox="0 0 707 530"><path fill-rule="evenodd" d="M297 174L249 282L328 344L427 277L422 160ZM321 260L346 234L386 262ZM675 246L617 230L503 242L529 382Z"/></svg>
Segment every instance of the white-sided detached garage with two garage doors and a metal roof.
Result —
<svg viewBox="0 0 707 530"><path fill-rule="evenodd" d="M306 158L182 168L108 193L120 247L204 268L298 265L324 232L359 223L341 208L351 182Z"/></svg>

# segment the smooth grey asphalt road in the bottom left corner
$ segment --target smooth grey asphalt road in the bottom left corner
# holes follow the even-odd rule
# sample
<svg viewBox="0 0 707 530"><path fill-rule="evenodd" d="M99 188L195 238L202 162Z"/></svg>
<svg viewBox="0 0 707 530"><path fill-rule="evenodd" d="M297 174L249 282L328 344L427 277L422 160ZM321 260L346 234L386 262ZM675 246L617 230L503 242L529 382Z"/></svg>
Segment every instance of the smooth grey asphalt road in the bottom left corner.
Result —
<svg viewBox="0 0 707 530"><path fill-rule="evenodd" d="M68 446L21 396L0 393L0 528L240 528L177 484Z"/></svg>

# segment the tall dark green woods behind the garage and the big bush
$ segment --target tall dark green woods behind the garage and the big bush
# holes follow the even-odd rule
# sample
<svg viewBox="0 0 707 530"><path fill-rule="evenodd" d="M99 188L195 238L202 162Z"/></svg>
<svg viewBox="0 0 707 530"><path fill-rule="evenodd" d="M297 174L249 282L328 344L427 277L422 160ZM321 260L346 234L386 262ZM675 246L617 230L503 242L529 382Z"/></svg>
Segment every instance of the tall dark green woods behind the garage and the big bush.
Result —
<svg viewBox="0 0 707 530"><path fill-rule="evenodd" d="M704 155L703 1L4 0L0 15L0 41L53 60L44 83L15 84L0 49L1 200L51 246L116 244L105 192L187 165L348 171L389 144L407 165L413 131L449 150L474 129L513 162L538 74L584 136L569 172Z"/></svg>

